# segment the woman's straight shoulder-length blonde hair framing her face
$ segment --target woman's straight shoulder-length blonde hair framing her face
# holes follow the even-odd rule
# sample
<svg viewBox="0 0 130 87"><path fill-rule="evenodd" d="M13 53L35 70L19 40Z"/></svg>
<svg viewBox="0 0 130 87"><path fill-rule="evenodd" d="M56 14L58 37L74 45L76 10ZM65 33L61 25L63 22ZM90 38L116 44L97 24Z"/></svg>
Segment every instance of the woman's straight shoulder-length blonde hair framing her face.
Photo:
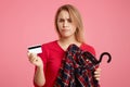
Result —
<svg viewBox="0 0 130 87"><path fill-rule="evenodd" d="M70 4L62 5L56 11L54 25L55 25L56 32L58 34L58 37L61 38L58 27L57 27L57 17L58 17L60 12L63 10L67 11L70 15L72 21L75 22L75 25L77 27L76 33L75 33L76 40L79 42L83 42L84 41L84 39L83 39L83 24L82 24L80 13L74 5L70 5Z"/></svg>

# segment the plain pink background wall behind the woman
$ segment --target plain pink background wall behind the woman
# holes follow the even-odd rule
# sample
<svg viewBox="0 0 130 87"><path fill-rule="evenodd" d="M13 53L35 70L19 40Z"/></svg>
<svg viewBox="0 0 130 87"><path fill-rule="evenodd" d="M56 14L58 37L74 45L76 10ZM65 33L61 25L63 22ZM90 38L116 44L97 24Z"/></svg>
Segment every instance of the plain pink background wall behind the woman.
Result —
<svg viewBox="0 0 130 87"><path fill-rule="evenodd" d="M113 55L101 63L101 87L130 87L130 0L0 0L0 87L32 87L27 47L57 39L54 14L64 3L79 9L96 57Z"/></svg>

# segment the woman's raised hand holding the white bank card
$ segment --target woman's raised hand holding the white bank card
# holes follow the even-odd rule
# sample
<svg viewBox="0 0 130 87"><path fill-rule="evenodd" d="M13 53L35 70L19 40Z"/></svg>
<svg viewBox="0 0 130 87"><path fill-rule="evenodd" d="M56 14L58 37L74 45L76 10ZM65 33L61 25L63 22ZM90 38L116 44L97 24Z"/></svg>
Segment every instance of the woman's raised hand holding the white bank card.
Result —
<svg viewBox="0 0 130 87"><path fill-rule="evenodd" d="M38 57L36 53L28 52L28 59L29 62L38 67L43 67L43 63L40 57Z"/></svg>

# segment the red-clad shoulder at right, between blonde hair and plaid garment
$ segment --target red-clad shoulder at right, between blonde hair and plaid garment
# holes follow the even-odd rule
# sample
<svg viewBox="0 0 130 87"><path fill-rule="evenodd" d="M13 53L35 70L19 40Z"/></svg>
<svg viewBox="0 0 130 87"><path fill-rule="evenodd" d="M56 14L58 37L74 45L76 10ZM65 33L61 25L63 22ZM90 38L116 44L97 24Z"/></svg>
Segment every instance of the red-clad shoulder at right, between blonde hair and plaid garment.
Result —
<svg viewBox="0 0 130 87"><path fill-rule="evenodd" d="M90 53L92 53L93 55L95 55L95 49L93 48L93 46L91 46L91 45L88 45L88 44L82 44L81 45L81 49L83 50L83 51L89 51Z"/></svg>

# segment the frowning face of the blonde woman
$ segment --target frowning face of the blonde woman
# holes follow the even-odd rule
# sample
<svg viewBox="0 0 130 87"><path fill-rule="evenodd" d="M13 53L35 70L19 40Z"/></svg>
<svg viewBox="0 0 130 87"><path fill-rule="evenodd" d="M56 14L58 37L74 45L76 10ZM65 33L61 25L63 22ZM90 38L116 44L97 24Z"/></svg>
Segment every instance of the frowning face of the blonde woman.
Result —
<svg viewBox="0 0 130 87"><path fill-rule="evenodd" d="M57 27L61 37L74 37L76 32L75 23L67 11L63 10L57 16Z"/></svg>

